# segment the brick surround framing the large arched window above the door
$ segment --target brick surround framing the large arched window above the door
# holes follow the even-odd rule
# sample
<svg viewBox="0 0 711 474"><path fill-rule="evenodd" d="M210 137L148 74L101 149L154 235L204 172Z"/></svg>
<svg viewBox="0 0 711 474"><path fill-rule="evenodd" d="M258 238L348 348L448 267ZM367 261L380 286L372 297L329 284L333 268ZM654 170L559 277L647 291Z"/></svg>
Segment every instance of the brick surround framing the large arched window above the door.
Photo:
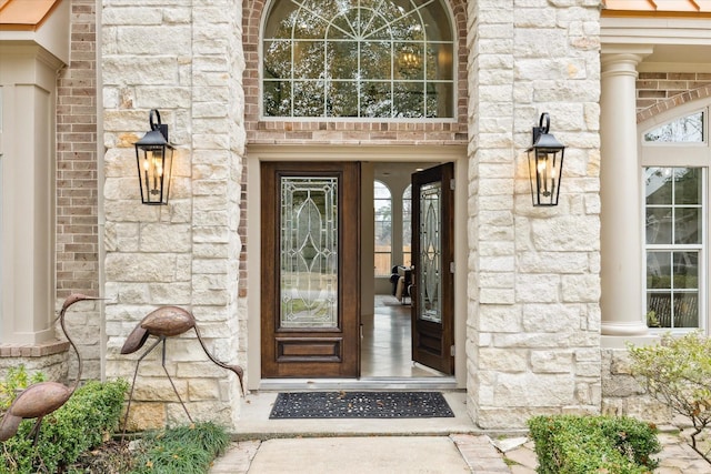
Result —
<svg viewBox="0 0 711 474"><path fill-rule="evenodd" d="M261 120L260 28L269 1L244 2L243 47L246 59L244 101L249 144L465 144L467 143L467 2L445 0L452 14L457 47L457 103L450 121L369 121L323 119Z"/></svg>

